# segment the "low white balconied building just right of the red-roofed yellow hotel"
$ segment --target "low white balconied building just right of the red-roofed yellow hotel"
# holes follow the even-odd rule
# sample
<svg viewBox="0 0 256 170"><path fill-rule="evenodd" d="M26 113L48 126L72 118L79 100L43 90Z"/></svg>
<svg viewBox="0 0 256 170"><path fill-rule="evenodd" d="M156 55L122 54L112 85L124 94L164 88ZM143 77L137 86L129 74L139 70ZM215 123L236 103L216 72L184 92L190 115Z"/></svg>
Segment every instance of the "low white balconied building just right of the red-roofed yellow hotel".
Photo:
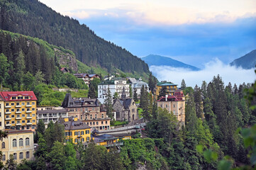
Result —
<svg viewBox="0 0 256 170"><path fill-rule="evenodd" d="M39 120L43 120L45 128L47 128L50 121L55 123L60 120L60 118L68 118L68 113L68 109L62 107L40 107L37 108L37 122L39 122Z"/></svg>

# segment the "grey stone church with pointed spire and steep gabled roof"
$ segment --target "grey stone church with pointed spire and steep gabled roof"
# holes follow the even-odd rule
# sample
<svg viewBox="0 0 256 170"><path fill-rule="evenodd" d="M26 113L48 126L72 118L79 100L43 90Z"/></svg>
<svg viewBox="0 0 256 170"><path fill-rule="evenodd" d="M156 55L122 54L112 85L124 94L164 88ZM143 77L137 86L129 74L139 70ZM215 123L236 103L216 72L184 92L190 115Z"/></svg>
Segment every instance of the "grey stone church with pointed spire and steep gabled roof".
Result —
<svg viewBox="0 0 256 170"><path fill-rule="evenodd" d="M125 89L123 89L121 98L116 98L113 101L113 110L116 112L116 120L130 123L138 119L138 107L133 98L126 98Z"/></svg>

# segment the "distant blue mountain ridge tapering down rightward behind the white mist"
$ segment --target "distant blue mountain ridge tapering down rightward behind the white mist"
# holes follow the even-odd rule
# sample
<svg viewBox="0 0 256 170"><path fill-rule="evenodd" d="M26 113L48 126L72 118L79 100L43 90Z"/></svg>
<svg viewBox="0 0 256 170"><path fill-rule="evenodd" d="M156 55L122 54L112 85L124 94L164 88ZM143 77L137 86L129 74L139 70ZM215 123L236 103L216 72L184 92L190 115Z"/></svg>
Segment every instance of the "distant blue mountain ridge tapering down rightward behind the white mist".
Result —
<svg viewBox="0 0 256 170"><path fill-rule="evenodd" d="M191 69L193 71L200 70L197 67L194 67L189 64L185 64L184 62L179 62L178 60L174 60L170 57L165 57L161 55L148 55L145 57L141 57L141 60L144 60L149 66L156 65L156 66L162 66L166 65L169 67L177 67L177 68L185 68L185 69Z"/></svg>

